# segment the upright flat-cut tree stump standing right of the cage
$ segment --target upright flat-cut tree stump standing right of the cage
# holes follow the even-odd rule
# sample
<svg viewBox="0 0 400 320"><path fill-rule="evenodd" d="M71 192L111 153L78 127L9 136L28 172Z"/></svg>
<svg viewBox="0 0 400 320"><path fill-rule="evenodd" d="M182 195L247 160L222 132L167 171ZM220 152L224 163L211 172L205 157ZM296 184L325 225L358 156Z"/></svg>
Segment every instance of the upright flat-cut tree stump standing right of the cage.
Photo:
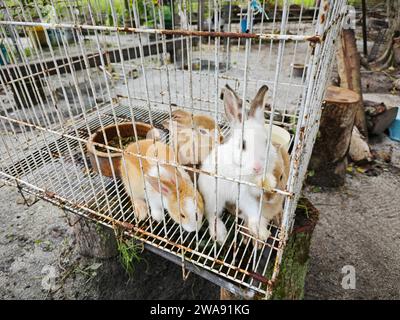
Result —
<svg viewBox="0 0 400 320"><path fill-rule="evenodd" d="M345 183L347 153L357 112L359 95L354 91L328 87L315 141L307 181L313 185L338 187Z"/></svg>

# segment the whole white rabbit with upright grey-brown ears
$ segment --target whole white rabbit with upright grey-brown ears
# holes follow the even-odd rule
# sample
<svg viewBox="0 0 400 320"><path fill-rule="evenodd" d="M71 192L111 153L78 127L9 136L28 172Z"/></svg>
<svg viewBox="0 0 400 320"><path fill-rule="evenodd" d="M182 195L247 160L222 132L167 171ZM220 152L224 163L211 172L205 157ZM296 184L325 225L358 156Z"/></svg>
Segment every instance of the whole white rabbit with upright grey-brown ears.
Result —
<svg viewBox="0 0 400 320"><path fill-rule="evenodd" d="M203 161L201 169L210 173L217 173L223 177L241 179L254 183L262 176L266 161L268 131L265 127L264 108L267 97L267 86L262 86L251 102L247 119L244 120L242 138L242 100L228 86L223 89L225 113L231 125L231 135L224 144L216 146ZM240 153L242 158L240 161ZM217 156L217 163L215 159ZM271 144L267 162L265 179L267 184L274 188L276 179L273 175L274 163L277 158L276 148ZM216 166L217 165L217 166ZM239 174L241 166L241 176ZM220 216L226 203L235 203L237 198L237 182L217 178L218 192L215 192L215 177L205 173L199 176L199 190L203 195L205 215L210 229L210 235L219 243L223 243L227 230ZM260 188L240 184L239 210L241 217L252 235L260 240L267 240L270 232L267 229L268 221L259 214ZM218 201L217 198L218 197ZM258 198L259 199L259 198Z"/></svg>

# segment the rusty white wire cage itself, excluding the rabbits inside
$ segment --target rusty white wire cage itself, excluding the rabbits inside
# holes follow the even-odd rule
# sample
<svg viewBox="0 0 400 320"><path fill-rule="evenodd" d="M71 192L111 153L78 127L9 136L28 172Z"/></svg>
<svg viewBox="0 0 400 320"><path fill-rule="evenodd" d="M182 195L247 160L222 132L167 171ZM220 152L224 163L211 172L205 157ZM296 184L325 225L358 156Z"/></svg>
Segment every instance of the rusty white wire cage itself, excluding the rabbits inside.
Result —
<svg viewBox="0 0 400 320"><path fill-rule="evenodd" d="M242 295L268 298L293 226L346 2L0 3L2 180L106 226L122 227L184 271ZM246 231L238 210L223 215L228 237L222 246L210 237L206 219L195 232L186 232L168 214L161 222L150 215L138 221L115 166L115 154L124 152L122 124L133 129L147 123L168 143L163 122L185 110L209 115L228 136L220 99L225 84L244 105L267 84L270 136L272 125L290 133L289 178L286 188L274 190L285 198L283 215L279 224L269 225L267 241ZM117 124L113 146L106 130ZM96 132L102 139L93 142ZM138 139L137 130L130 132ZM101 153L90 153L89 141ZM194 173L197 189L199 166L176 159L172 166Z"/></svg>

